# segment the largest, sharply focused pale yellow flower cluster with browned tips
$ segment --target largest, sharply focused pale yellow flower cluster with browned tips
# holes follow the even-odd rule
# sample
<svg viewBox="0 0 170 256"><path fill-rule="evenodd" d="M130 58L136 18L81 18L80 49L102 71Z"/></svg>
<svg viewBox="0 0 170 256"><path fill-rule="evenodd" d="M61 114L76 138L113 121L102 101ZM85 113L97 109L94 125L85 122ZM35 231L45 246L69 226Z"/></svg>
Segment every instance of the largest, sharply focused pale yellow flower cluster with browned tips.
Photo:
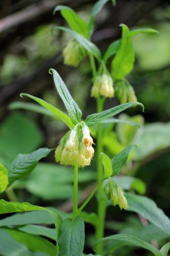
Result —
<svg viewBox="0 0 170 256"><path fill-rule="evenodd" d="M93 139L87 125L83 122L78 123L69 135L65 136L56 148L56 162L71 166L75 166L77 162L79 167L89 165L94 155L94 149L92 147Z"/></svg>

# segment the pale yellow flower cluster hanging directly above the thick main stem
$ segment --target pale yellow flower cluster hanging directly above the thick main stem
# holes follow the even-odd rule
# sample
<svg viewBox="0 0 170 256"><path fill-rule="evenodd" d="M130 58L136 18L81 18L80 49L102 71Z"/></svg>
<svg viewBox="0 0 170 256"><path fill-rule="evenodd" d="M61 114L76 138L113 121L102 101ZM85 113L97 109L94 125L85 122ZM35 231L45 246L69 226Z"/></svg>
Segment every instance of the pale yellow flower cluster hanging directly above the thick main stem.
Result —
<svg viewBox="0 0 170 256"><path fill-rule="evenodd" d="M114 96L113 80L110 75L97 75L95 82L91 88L91 96L97 98L97 96L104 96L112 98Z"/></svg>

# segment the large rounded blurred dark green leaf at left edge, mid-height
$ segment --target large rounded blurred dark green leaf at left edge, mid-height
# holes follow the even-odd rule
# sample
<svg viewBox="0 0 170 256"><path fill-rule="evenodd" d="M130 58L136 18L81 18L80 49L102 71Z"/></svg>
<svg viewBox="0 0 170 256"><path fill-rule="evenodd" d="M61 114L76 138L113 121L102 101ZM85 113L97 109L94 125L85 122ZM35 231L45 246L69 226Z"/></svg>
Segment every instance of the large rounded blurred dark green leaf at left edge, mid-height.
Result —
<svg viewBox="0 0 170 256"><path fill-rule="evenodd" d="M19 153L29 153L43 141L36 123L19 113L13 113L0 126L0 162L8 168Z"/></svg>

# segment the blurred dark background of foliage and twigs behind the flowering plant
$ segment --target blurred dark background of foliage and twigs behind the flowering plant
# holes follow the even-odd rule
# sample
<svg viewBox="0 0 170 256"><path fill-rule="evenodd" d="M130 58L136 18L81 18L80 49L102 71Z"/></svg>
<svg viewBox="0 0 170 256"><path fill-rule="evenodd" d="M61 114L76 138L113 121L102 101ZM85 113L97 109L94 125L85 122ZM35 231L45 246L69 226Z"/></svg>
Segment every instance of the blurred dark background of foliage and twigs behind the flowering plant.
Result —
<svg viewBox="0 0 170 256"><path fill-rule="evenodd" d="M68 5L88 20L93 3L95 1L92 0L0 1L0 162L5 166L9 166L19 153L30 153L40 147L55 148L67 131L60 121L40 115L39 108L36 108L36 112L32 111L35 106L30 104L30 100L19 97L20 93L26 92L65 110L48 74L50 67L60 73L83 110L84 117L96 111L95 100L90 97L91 70L88 59L77 69L63 65L62 49L69 36L63 32L57 32L54 36L51 32L56 25L66 25L59 12L52 15L56 5ZM119 25L122 23L130 30L155 28L160 34L146 33L133 38L136 62L128 80L145 110L142 114L139 108L127 113L142 115L136 119L144 125L138 131L122 124L109 127L110 133L108 131L103 140L105 151L113 156L128 143L136 143L138 149L124 168L124 173L142 179L146 184L146 195L170 216L170 3L161 0L118 0L113 7L109 1L97 15L92 36L102 52L112 41L120 38ZM116 104L118 99L108 100L105 108ZM116 136L117 143L110 140L111 134ZM128 139L125 139L126 135ZM108 140L110 144L107 144ZM85 198L93 187L94 166L92 164L88 170L80 173L80 199ZM71 210L72 178L71 170L56 167L52 153L42 160L30 178L15 183L15 194L3 193L1 198L15 199L16 196L19 201L57 206L67 212ZM143 191L142 185L139 186L139 190ZM95 199L87 210L95 211ZM106 234L122 232L125 228L130 232L130 228L135 229L139 225L134 214L119 212L118 207L115 210L109 208L107 223ZM89 247L93 241L93 228L87 224L86 230L86 250L91 252ZM157 241L153 241L155 245L166 241L163 234L160 236L158 234ZM133 253L120 249L114 255L147 255L146 251L137 249Z"/></svg>

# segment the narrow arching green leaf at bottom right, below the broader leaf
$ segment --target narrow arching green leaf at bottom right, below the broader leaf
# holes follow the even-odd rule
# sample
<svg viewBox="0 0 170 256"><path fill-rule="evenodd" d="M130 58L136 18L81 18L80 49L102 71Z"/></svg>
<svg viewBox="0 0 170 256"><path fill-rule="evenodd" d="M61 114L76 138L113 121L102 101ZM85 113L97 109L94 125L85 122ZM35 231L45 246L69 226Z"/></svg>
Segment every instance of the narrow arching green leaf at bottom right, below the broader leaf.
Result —
<svg viewBox="0 0 170 256"><path fill-rule="evenodd" d="M105 241L122 241L122 242L130 243L134 246L142 247L148 251L151 251L151 253L153 253L155 256L162 256L160 251L153 245L146 243L134 236L130 236L128 234L115 234L113 236L107 236L97 241L95 245L98 245L99 243L103 243Z"/></svg>

